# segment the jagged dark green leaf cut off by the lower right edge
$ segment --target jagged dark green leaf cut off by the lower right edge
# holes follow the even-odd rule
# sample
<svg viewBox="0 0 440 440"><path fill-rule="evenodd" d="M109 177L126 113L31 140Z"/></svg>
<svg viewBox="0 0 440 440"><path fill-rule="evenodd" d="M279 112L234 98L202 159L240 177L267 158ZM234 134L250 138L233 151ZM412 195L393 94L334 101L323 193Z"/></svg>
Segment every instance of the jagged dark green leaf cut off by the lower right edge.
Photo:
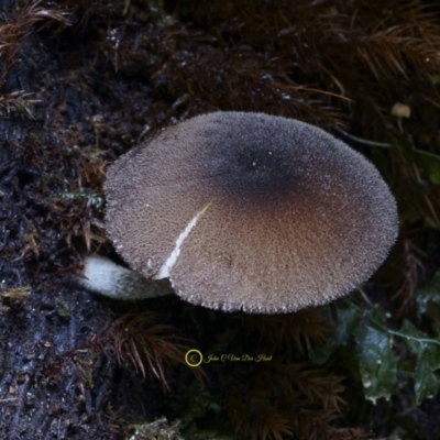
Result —
<svg viewBox="0 0 440 440"><path fill-rule="evenodd" d="M406 334L405 344L417 355L417 366L414 374L414 389L417 405L425 398L435 396L440 386L440 380L435 371L440 369L440 341L430 339L405 320L400 333Z"/></svg>

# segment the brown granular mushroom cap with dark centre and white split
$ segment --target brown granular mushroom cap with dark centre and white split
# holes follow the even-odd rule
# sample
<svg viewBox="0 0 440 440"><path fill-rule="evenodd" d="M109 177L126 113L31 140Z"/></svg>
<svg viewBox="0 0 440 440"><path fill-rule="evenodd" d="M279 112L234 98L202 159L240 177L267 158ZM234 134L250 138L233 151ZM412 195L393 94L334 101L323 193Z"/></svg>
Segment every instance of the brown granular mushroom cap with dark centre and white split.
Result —
<svg viewBox="0 0 440 440"><path fill-rule="evenodd" d="M287 312L348 294L386 257L396 202L324 131L263 113L179 123L108 170L106 223L145 277L223 310Z"/></svg>

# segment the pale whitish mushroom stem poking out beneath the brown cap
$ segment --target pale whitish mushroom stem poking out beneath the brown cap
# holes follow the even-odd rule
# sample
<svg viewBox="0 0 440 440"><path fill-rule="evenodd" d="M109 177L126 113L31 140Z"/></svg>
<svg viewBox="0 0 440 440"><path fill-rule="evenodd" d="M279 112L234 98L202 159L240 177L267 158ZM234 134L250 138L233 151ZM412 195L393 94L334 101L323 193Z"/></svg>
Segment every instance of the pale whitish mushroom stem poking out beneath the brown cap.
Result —
<svg viewBox="0 0 440 440"><path fill-rule="evenodd" d="M87 290L118 299L143 299L173 294L169 282L151 282L109 258L98 255L84 261L81 277L76 278Z"/></svg>

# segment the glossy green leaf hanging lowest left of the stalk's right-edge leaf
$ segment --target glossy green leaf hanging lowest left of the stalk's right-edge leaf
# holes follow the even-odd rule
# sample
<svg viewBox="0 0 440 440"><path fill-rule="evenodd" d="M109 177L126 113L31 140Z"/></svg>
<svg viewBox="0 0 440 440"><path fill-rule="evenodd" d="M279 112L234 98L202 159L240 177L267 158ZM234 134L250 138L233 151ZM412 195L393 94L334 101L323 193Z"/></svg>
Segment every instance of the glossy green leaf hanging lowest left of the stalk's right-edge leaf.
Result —
<svg viewBox="0 0 440 440"><path fill-rule="evenodd" d="M396 383L396 358L386 329L360 326L355 331L359 370L365 398L374 404L378 397L391 397Z"/></svg>

